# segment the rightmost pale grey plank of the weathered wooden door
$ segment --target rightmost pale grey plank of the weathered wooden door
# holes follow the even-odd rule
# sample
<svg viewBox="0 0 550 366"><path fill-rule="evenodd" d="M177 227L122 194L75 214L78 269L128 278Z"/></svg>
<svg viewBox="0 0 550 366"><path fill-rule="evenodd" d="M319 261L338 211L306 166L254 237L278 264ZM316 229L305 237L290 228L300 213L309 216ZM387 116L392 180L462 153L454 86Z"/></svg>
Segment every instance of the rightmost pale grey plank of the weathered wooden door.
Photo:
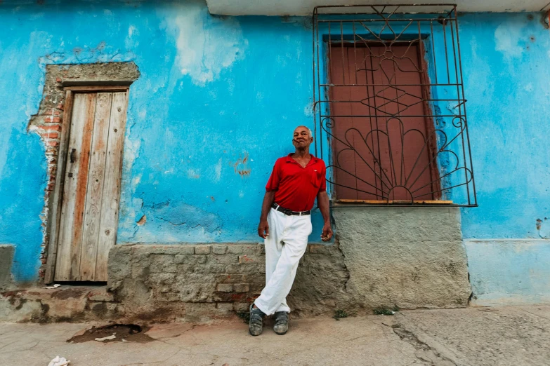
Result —
<svg viewBox="0 0 550 366"><path fill-rule="evenodd" d="M120 182L122 175L122 149L124 127L126 126L127 93L113 93L105 182L101 204L96 280L107 280L107 259L109 250L117 241Z"/></svg>

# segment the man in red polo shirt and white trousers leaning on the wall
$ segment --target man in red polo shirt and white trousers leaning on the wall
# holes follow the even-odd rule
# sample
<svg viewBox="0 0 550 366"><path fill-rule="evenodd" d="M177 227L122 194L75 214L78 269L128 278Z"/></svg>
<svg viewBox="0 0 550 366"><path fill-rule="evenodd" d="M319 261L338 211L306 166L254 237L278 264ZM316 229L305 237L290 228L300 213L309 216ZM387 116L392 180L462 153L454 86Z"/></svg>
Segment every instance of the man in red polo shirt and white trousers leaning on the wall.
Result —
<svg viewBox="0 0 550 366"><path fill-rule="evenodd" d="M315 198L325 220L321 239L332 237L325 162L309 154L312 142L309 128L296 127L292 139L296 151L277 159L266 185L258 225L258 235L266 244L266 287L250 307L249 332L253 336L261 334L264 315L275 314L275 333L285 334L288 330L290 308L286 297L306 252Z"/></svg>

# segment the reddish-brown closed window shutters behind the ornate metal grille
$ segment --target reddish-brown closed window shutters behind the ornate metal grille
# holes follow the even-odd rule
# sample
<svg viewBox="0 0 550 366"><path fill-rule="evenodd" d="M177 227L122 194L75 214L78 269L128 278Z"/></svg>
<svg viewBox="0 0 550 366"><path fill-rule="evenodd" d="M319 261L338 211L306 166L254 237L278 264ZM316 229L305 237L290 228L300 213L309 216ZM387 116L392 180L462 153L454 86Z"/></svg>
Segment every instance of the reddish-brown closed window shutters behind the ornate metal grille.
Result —
<svg viewBox="0 0 550 366"><path fill-rule="evenodd" d="M332 48L332 47L331 47ZM330 50L332 159L339 200L435 200L433 121L417 43L342 43Z"/></svg>

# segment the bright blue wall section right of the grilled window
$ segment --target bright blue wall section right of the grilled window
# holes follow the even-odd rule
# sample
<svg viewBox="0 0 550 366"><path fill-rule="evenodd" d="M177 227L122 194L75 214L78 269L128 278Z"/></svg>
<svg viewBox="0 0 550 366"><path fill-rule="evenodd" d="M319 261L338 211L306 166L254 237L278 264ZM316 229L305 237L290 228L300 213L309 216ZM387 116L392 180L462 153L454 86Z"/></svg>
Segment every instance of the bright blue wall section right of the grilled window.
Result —
<svg viewBox="0 0 550 366"><path fill-rule="evenodd" d="M541 18L460 18L480 205L463 210L464 238L550 238L550 31Z"/></svg>

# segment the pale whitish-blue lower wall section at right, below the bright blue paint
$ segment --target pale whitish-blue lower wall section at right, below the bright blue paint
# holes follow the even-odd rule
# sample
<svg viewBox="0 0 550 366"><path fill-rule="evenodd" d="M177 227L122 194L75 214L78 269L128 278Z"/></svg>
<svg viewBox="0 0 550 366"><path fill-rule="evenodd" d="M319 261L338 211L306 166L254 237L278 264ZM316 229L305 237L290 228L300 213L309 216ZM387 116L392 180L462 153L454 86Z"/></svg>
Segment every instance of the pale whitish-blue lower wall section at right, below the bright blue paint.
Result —
<svg viewBox="0 0 550 366"><path fill-rule="evenodd" d="M550 302L550 240L465 239L475 306Z"/></svg>

